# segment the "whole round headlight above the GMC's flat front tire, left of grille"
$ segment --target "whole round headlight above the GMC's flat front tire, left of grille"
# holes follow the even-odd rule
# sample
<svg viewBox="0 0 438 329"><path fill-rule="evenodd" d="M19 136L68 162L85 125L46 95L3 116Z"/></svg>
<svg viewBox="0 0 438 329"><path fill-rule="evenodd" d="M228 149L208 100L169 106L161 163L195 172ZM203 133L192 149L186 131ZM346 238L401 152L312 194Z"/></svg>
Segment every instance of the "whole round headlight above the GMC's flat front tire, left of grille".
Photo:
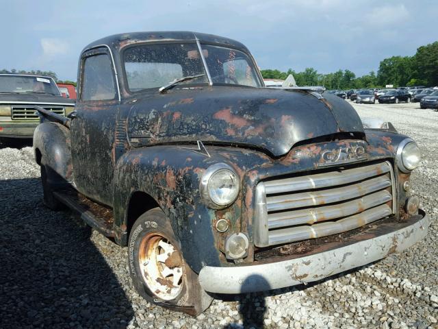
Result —
<svg viewBox="0 0 438 329"><path fill-rule="evenodd" d="M199 190L203 202L209 208L222 209L235 201L240 191L240 182L228 164L216 163L205 171Z"/></svg>

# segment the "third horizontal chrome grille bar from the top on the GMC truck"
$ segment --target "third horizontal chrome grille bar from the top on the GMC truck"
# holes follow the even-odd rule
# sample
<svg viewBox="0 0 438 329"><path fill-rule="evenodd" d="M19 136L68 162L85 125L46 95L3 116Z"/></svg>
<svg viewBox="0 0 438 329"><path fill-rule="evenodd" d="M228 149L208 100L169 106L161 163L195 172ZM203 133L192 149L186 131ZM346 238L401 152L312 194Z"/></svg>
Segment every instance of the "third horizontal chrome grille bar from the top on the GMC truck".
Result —
<svg viewBox="0 0 438 329"><path fill-rule="evenodd" d="M354 199L344 204L324 206L318 208L307 208L302 210L276 212L268 214L268 228L283 228L301 224L313 224L320 221L329 221L340 217L356 214L363 210L385 204L391 201L392 195L387 190L366 195L360 199Z"/></svg>

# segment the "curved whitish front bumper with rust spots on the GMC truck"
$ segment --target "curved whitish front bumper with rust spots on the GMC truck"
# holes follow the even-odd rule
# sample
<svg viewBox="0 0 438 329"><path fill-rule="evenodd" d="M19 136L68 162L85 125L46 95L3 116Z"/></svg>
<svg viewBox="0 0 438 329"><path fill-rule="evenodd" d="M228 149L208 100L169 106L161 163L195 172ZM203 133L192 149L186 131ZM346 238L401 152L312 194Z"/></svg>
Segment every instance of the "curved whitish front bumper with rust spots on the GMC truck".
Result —
<svg viewBox="0 0 438 329"><path fill-rule="evenodd" d="M426 236L429 219L420 210L420 215L392 227L384 234L365 234L368 239L301 258L252 266L205 266L198 279L211 293L250 293L321 280L411 247Z"/></svg>

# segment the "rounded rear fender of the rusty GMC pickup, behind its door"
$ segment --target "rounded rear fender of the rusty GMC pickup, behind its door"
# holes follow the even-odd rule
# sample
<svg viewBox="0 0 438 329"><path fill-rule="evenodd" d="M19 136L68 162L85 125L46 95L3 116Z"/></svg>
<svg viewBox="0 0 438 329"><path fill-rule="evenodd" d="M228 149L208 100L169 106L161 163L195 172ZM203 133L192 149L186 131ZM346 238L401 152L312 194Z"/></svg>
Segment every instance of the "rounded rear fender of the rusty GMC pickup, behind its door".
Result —
<svg viewBox="0 0 438 329"><path fill-rule="evenodd" d="M70 130L60 123L44 122L34 132L34 153L40 151L41 164L53 169L65 180L70 180L71 162ZM37 159L38 160L38 159Z"/></svg>

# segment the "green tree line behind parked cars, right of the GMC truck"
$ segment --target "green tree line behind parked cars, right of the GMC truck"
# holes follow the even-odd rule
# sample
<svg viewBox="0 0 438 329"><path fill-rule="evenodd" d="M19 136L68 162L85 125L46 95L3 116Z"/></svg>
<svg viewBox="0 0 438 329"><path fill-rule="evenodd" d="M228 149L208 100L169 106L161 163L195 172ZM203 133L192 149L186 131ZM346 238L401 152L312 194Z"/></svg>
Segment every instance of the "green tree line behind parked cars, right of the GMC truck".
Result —
<svg viewBox="0 0 438 329"><path fill-rule="evenodd" d="M392 56L380 62L378 71L356 77L350 70L338 70L335 73L322 74L308 67L302 72L292 69L261 70L265 79L285 80L294 75L298 86L324 86L327 89L360 89L385 87L387 84L398 86L438 86L438 41L419 47L414 56Z"/></svg>

